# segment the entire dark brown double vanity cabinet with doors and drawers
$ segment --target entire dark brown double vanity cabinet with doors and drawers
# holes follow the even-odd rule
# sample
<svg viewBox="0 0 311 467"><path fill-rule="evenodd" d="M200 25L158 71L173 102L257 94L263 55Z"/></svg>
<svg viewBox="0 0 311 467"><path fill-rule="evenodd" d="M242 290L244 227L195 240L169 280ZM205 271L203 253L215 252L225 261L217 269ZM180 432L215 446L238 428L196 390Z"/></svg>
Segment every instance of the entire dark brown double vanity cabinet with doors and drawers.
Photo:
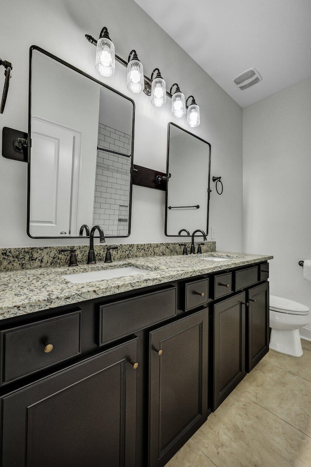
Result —
<svg viewBox="0 0 311 467"><path fill-rule="evenodd" d="M268 351L268 271L0 321L0 466L165 466Z"/></svg>

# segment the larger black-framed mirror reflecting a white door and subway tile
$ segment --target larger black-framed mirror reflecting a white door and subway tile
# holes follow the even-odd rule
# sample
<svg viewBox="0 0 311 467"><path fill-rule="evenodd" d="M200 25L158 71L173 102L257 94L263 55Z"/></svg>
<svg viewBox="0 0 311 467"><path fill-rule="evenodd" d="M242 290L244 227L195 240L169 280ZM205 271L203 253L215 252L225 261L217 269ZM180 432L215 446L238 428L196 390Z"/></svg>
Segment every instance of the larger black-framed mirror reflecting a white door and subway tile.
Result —
<svg viewBox="0 0 311 467"><path fill-rule="evenodd" d="M82 224L130 234L134 113L132 99L31 47L29 236L77 237Z"/></svg>

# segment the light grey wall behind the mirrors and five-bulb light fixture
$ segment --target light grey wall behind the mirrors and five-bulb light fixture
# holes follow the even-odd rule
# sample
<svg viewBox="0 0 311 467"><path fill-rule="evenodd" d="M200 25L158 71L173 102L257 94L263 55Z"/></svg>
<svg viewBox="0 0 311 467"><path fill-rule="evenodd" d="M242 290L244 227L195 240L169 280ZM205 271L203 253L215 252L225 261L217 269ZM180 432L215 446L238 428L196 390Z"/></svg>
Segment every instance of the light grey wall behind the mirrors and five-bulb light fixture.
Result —
<svg viewBox="0 0 311 467"><path fill-rule="evenodd" d="M242 109L132 0L29 0L27 7L21 0L2 0L1 58L13 63L13 72L0 127L27 131L31 45L38 45L101 79L94 67L95 47L86 41L85 34L98 38L103 26L107 26L118 55L126 60L135 48L146 75L150 76L158 67L168 87L178 82L186 97L194 95L201 110L201 125L193 133L211 144L211 174L221 175L224 181L222 196L216 194L213 183L211 186L210 226L216 229L219 249L241 251ZM0 70L1 83L3 71ZM126 70L120 64L115 75L103 78L103 82L135 100L134 162L165 172L168 122L187 128L186 119L180 122L171 116L170 99L164 108L154 108L144 94L127 91ZM0 247L68 244L66 239L40 240L27 236L25 163L0 157L0 190ZM177 240L164 235L164 203L164 192L134 186L131 235L118 242ZM112 242L115 240L107 241ZM256 245L254 252L257 251Z"/></svg>

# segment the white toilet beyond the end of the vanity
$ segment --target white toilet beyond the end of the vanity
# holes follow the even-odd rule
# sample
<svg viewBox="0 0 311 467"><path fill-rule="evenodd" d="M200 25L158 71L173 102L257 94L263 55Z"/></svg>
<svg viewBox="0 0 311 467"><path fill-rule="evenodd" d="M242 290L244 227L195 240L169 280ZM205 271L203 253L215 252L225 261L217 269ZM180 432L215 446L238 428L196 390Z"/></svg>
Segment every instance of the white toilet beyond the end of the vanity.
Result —
<svg viewBox="0 0 311 467"><path fill-rule="evenodd" d="M270 349L301 357L303 351L299 328L310 322L308 306L275 295L270 295L269 298Z"/></svg>

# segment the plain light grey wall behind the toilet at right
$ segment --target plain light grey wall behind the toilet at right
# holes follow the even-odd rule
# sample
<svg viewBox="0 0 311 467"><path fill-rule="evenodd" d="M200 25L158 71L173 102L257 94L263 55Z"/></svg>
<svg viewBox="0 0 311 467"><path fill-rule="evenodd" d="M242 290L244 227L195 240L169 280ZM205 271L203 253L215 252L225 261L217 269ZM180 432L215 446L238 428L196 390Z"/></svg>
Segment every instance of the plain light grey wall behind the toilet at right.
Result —
<svg viewBox="0 0 311 467"><path fill-rule="evenodd" d="M243 251L273 254L271 293L311 308L311 78L243 109L243 190Z"/></svg>

